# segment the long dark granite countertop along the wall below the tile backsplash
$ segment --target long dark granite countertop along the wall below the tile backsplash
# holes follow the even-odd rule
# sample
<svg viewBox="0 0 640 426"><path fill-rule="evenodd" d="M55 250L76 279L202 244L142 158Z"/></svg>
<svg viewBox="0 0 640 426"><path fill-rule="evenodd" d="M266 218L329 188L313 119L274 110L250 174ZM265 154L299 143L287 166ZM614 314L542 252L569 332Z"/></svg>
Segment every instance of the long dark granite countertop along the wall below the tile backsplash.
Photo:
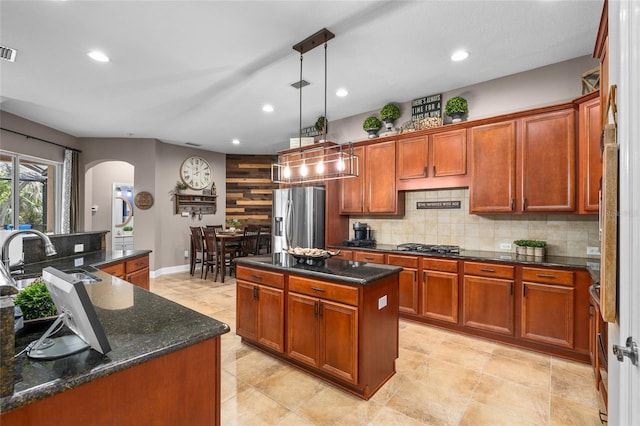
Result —
<svg viewBox="0 0 640 426"><path fill-rule="evenodd" d="M505 262L517 263L528 266L551 266L560 268L583 268L589 271L600 270L599 258L583 258L583 257L564 257L564 256L545 256L537 258L533 256L518 256L515 253L497 252L497 251L481 251L481 250L461 250L460 254L438 254L438 253L422 253L406 250L398 250L397 246L391 244L378 244L375 248L365 247L346 247L340 245L332 245L330 248L338 248L343 250L354 251L374 251L393 254L413 254L419 256L441 257L447 259L462 260L478 260L487 262Z"/></svg>

